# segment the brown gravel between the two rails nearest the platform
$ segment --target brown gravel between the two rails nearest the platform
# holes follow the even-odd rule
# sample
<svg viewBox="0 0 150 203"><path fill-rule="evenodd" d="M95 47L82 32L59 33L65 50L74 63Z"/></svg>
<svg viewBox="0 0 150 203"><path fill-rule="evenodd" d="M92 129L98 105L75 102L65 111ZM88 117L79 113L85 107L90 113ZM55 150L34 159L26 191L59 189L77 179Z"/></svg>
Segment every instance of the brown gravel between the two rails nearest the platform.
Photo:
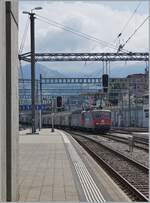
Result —
<svg viewBox="0 0 150 203"><path fill-rule="evenodd" d="M74 135L73 135L74 136ZM76 136L75 136L76 137ZM105 162L117 170L123 177L126 178L132 185L148 197L148 174L145 174L141 169L137 168L130 162L123 160L119 156L114 156L108 149L100 146L97 143L92 143L86 138L77 136L81 142L84 142L93 152L98 154Z"/></svg>

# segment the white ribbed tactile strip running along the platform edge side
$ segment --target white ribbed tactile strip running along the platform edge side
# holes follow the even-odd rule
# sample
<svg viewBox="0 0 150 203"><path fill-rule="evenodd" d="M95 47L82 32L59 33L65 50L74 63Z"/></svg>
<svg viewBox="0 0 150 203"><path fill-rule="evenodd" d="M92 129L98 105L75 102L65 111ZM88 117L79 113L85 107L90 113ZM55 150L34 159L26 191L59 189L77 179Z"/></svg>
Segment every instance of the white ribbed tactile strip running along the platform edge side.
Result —
<svg viewBox="0 0 150 203"><path fill-rule="evenodd" d="M88 169L86 168L85 164L83 163L82 159L76 152L75 148L71 144L70 140L67 138L66 134L59 131L63 137L64 143L67 144L67 148L71 159L73 161L75 171L79 178L81 187L84 191L85 197L87 202L105 202L103 195L101 194L99 188L95 184L92 176L90 175Z"/></svg>

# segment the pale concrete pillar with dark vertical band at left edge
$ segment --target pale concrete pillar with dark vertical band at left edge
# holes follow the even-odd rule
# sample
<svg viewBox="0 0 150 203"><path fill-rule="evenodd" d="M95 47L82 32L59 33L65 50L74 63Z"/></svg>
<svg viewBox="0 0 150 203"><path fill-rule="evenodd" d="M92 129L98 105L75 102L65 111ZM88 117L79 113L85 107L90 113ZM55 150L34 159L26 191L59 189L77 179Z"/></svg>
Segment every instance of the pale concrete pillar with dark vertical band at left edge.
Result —
<svg viewBox="0 0 150 203"><path fill-rule="evenodd" d="M6 12L7 7L10 6ZM10 22L9 22L10 21ZM17 200L18 1L0 1L0 200Z"/></svg>

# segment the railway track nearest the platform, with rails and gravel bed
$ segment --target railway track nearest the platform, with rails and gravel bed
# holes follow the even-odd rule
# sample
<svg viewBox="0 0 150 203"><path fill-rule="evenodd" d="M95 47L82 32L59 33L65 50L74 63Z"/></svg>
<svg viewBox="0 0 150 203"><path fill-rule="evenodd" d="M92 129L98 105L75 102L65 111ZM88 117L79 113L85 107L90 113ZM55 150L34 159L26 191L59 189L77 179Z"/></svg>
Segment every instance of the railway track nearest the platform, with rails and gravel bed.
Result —
<svg viewBox="0 0 150 203"><path fill-rule="evenodd" d="M125 155L100 143L95 138L71 134L120 185L133 201L147 201L149 198L149 169Z"/></svg>

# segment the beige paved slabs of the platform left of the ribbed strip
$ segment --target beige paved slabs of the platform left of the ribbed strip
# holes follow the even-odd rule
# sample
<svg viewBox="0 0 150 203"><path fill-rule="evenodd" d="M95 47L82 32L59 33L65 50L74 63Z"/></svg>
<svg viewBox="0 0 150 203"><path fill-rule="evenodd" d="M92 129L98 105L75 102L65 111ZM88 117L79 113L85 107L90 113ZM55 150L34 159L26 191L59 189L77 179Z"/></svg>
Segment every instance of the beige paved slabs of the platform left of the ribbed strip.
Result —
<svg viewBox="0 0 150 203"><path fill-rule="evenodd" d="M19 201L79 201L63 138L57 131L44 129L40 136L20 136L19 161Z"/></svg>

